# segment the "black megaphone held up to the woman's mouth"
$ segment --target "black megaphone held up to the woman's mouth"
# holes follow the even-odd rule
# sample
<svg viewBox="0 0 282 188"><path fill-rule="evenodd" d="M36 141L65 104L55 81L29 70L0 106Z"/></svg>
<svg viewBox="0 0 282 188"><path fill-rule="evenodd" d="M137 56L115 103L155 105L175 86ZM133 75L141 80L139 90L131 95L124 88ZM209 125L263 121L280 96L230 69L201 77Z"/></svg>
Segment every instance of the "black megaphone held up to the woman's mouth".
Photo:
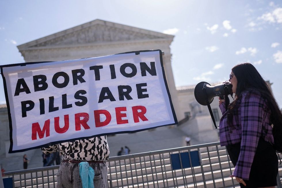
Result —
<svg viewBox="0 0 282 188"><path fill-rule="evenodd" d="M202 81L196 85L194 90L194 95L197 102L203 106L207 106L207 100L209 104L212 103L214 97L216 96L224 98L223 96L232 94L232 85L227 81L215 86L211 86L209 83Z"/></svg>

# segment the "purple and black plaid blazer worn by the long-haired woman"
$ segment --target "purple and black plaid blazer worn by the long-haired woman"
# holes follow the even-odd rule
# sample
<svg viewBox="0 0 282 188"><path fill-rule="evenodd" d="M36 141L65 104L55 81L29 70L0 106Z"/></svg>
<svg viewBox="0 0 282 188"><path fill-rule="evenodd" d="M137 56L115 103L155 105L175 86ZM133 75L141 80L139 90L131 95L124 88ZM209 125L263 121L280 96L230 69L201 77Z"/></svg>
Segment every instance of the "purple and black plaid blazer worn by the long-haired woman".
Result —
<svg viewBox="0 0 282 188"><path fill-rule="evenodd" d="M274 143L272 127L270 123L270 109L266 105L266 99L262 98L256 90L246 90L241 99L237 100L238 109L233 115L233 125L228 125L228 111L225 111L225 103L219 107L222 117L219 123L220 145L226 146L241 142L241 151L233 175L249 180L251 165L254 160L258 140L260 136L266 141ZM265 131L262 130L265 128Z"/></svg>

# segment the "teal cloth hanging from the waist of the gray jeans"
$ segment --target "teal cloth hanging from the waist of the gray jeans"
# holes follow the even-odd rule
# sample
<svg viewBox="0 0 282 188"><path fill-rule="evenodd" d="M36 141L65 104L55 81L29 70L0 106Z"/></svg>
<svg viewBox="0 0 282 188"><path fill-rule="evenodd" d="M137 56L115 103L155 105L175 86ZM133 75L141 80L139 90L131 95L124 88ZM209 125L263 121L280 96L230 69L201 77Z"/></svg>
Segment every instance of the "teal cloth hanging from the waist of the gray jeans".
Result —
<svg viewBox="0 0 282 188"><path fill-rule="evenodd" d="M88 162L79 163L79 175L83 188L94 188L94 169Z"/></svg>

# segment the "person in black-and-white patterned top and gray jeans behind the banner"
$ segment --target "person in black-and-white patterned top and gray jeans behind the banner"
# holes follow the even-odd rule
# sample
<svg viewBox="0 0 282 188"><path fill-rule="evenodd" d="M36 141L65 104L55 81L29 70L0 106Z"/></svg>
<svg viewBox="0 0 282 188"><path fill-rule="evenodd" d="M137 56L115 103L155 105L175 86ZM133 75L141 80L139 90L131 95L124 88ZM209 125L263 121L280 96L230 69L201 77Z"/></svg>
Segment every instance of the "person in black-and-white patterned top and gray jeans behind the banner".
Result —
<svg viewBox="0 0 282 188"><path fill-rule="evenodd" d="M94 187L108 187L106 161L110 151L106 136L60 143L41 150L45 154L56 151L62 154L57 188L82 188L93 183Z"/></svg>

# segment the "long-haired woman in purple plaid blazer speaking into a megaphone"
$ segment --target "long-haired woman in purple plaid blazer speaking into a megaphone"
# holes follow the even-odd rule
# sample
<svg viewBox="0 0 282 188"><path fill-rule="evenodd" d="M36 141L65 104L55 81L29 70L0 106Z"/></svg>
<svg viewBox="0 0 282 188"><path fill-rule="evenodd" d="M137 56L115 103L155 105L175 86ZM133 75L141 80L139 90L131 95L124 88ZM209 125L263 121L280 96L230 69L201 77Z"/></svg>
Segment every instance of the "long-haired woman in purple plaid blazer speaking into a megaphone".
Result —
<svg viewBox="0 0 282 188"><path fill-rule="evenodd" d="M282 114L266 82L250 63L232 68L229 82L235 100L222 111L220 145L226 146L240 187L275 187L278 159L273 147L273 127L281 128Z"/></svg>

